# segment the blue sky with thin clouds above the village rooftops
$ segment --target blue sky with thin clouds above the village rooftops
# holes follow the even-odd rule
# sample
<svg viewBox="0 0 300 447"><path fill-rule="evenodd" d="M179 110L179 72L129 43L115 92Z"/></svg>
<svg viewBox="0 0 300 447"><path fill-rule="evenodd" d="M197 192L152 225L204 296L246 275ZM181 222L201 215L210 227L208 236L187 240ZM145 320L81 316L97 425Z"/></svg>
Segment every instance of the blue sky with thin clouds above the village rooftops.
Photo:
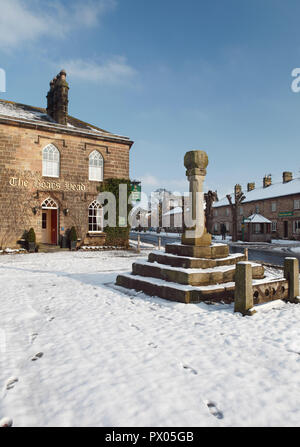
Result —
<svg viewBox="0 0 300 447"><path fill-rule="evenodd" d="M3 99L45 106L68 73L71 115L131 137L144 191L187 189L183 157L209 157L220 198L284 170L300 176L300 3L294 0L0 0Z"/></svg>

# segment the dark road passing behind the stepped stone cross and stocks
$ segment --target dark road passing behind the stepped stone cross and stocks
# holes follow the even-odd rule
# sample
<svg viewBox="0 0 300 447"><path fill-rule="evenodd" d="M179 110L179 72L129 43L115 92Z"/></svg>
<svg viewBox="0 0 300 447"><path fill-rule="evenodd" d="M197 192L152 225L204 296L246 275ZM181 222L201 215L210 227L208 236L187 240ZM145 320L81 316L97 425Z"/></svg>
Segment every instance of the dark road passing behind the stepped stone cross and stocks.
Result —
<svg viewBox="0 0 300 447"><path fill-rule="evenodd" d="M136 240L138 234L140 234L141 236L141 242L153 244L155 247L157 247L159 234L131 232L130 238ZM164 247L166 244L172 244L174 242L180 242L180 237L175 237L175 235L173 237L161 236L162 247ZM280 245L274 250L274 246L271 246L270 244L263 245L261 248L257 245L255 245L255 248L251 248L249 245L230 244L229 250L230 253L243 253L245 247L248 248L249 261L260 261L265 262L267 264L283 266L284 258L286 258L287 256L292 256L298 258L300 263L300 253L293 253L289 251L290 246L288 245L287 246ZM282 249L284 249L284 251L282 251Z"/></svg>

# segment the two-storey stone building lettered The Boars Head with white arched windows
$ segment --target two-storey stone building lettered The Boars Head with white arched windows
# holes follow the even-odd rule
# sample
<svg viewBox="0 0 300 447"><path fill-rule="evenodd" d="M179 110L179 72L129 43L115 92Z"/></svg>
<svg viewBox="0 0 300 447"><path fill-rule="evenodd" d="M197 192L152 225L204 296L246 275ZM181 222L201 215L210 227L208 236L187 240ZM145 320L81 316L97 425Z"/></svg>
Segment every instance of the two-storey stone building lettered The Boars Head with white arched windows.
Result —
<svg viewBox="0 0 300 447"><path fill-rule="evenodd" d="M57 245L71 226L82 244L103 244L99 186L129 178L133 142L68 115L62 70L47 108L0 100L0 247L18 246L33 227L37 243Z"/></svg>

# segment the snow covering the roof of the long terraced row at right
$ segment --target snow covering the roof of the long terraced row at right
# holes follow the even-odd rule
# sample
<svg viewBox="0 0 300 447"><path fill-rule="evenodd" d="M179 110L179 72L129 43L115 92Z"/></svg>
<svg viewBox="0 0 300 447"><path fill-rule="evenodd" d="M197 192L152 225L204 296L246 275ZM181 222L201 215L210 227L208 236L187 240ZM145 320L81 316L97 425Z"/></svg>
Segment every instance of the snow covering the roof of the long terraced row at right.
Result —
<svg viewBox="0 0 300 447"><path fill-rule="evenodd" d="M274 197L280 196L288 196L290 194L300 194L300 178L295 178L294 180L291 180L287 183L274 183L266 188L255 188L252 191L244 192L246 199L243 201L243 203L264 199L272 199ZM231 197L233 197L233 194L231 194ZM227 200L227 197L224 197L218 202L215 202L213 204L213 207L219 208L220 206L228 205L229 202Z"/></svg>

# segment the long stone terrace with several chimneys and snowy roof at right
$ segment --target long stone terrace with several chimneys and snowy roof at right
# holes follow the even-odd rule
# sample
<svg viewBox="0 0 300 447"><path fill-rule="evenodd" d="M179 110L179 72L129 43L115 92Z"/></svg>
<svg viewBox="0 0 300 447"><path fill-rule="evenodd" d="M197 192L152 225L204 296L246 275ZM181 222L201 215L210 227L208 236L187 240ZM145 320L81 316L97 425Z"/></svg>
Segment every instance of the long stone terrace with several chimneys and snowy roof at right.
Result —
<svg viewBox="0 0 300 447"><path fill-rule="evenodd" d="M241 192L240 185L235 186L235 192ZM283 172L282 181L272 183L271 176L265 176L262 187L248 183L246 196L238 209L238 239L245 239L244 221L253 214L260 214L271 221L272 239L300 240L300 179L293 178L291 172ZM234 194L232 194L234 202ZM213 205L213 233L221 233L221 225L225 224L227 232L232 234L231 208L227 197ZM263 241L264 229L261 223L253 226L256 233L253 240ZM261 236L260 236L261 235Z"/></svg>

